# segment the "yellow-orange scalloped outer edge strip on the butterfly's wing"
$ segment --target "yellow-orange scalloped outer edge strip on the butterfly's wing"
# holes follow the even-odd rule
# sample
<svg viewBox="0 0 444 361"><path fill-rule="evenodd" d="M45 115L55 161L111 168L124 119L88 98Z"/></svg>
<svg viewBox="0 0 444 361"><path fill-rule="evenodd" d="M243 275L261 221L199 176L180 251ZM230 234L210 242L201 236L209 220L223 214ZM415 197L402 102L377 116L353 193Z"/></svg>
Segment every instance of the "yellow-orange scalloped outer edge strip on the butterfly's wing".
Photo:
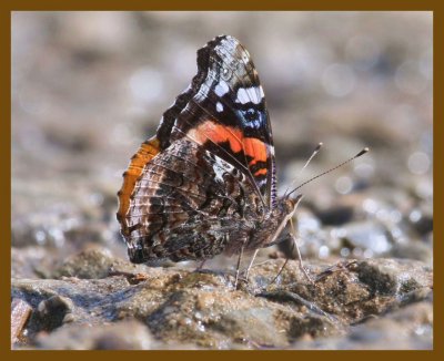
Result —
<svg viewBox="0 0 444 361"><path fill-rule="evenodd" d="M123 184L120 188L118 219L121 223L122 231L127 230L124 216L130 207L130 196L134 190L135 182L142 174L143 167L160 152L160 142L152 137L142 143L138 153L135 153L125 173L123 173Z"/></svg>

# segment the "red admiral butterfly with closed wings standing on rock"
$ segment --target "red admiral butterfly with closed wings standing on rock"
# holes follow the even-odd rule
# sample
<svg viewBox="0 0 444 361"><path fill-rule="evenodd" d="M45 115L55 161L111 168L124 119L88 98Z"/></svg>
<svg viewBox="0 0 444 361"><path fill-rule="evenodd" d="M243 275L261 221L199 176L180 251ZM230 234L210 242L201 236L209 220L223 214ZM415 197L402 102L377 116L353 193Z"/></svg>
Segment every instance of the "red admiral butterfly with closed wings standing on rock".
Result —
<svg viewBox="0 0 444 361"><path fill-rule="evenodd" d="M301 199L276 197L275 173L253 61L236 39L216 37L123 174L117 217L131 261L241 258L275 244Z"/></svg>

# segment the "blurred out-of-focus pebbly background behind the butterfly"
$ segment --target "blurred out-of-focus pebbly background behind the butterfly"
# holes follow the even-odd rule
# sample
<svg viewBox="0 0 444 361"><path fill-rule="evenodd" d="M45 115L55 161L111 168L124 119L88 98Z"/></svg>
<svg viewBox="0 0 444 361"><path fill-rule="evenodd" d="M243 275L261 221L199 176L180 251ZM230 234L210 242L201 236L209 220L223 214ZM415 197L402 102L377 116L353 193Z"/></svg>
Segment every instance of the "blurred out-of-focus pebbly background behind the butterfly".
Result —
<svg viewBox="0 0 444 361"><path fill-rule="evenodd" d="M258 68L281 192L371 148L303 188L304 256L431 265L432 27L412 11L13 12L12 276L91 244L127 258L121 174L222 33Z"/></svg>

